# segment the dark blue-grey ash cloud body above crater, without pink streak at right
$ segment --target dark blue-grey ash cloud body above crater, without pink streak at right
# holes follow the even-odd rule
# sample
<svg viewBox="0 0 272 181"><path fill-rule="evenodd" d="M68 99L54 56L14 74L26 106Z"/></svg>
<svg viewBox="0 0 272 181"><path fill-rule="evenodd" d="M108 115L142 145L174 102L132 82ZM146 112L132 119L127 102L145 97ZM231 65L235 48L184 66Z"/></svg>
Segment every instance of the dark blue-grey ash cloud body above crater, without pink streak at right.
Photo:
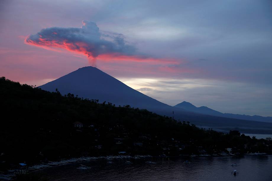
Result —
<svg viewBox="0 0 272 181"><path fill-rule="evenodd" d="M81 28L51 27L29 35L25 43L43 48L61 48L85 54L95 60L99 55L131 56L136 49L127 45L122 34L101 33L95 22L82 21Z"/></svg>

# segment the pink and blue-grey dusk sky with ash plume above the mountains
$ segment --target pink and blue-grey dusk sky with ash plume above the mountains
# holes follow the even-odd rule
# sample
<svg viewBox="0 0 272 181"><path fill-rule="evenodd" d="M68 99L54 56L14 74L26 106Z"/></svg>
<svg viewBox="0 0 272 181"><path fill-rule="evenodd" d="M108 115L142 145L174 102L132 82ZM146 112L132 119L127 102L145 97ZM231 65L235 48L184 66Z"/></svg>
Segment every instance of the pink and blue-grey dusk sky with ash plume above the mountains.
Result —
<svg viewBox="0 0 272 181"><path fill-rule="evenodd" d="M169 105L272 116L271 0L0 1L0 76L96 66Z"/></svg>

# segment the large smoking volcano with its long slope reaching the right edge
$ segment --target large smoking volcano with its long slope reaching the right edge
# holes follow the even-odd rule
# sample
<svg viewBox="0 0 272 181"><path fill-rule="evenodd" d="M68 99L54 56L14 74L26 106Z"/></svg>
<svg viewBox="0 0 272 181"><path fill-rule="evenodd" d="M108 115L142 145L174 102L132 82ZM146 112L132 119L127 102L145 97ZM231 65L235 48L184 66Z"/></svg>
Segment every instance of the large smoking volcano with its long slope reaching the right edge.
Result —
<svg viewBox="0 0 272 181"><path fill-rule="evenodd" d="M78 97L99 100L100 103L111 102L116 106L130 105L162 116L172 117L174 111L174 119L177 121L189 121L199 127L206 126L214 130L217 128L226 132L239 130L243 133L272 133L272 123L200 114L164 104L91 66L77 69L39 88L50 92L58 89L62 95L71 93Z"/></svg>

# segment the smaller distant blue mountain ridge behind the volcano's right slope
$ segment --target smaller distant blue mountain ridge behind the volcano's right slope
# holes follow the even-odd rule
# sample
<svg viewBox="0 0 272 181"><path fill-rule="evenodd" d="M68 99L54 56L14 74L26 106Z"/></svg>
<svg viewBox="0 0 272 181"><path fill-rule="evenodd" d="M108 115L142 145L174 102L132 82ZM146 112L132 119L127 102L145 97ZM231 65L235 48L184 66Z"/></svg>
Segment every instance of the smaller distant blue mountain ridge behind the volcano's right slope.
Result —
<svg viewBox="0 0 272 181"><path fill-rule="evenodd" d="M234 118L234 119L242 119L242 120L252 120L252 121L263 121L272 123L272 117L263 117L263 116L250 116L250 115L240 115L240 114L231 114L231 113L222 113L206 106L196 107L192 105L190 102L183 101L174 107L179 107L187 111L197 112L201 114L213 115L213 116L220 116L225 118Z"/></svg>

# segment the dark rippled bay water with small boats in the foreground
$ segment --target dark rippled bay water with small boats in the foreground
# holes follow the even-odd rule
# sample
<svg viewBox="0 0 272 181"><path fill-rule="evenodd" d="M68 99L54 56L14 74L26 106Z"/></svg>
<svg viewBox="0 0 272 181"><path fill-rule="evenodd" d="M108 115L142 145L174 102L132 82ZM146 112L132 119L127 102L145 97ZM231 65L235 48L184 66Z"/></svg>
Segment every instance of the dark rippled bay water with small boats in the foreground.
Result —
<svg viewBox="0 0 272 181"><path fill-rule="evenodd" d="M184 163L184 161L188 162ZM88 167L88 169L79 169L82 165ZM234 170L237 172L236 175L233 174ZM37 173L48 181L271 181L272 155L243 157L101 159L45 168L35 172L35 174Z"/></svg>

